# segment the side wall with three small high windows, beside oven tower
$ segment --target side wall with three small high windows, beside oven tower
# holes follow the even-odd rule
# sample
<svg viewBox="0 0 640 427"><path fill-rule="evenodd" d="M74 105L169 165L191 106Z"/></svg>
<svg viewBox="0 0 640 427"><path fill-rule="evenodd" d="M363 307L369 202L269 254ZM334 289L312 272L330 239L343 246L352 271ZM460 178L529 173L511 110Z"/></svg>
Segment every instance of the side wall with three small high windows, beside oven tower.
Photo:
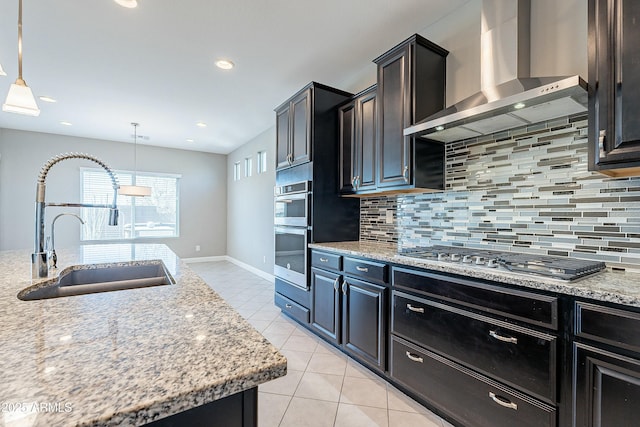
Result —
<svg viewBox="0 0 640 427"><path fill-rule="evenodd" d="M275 115L274 115L275 121ZM275 126L227 156L227 254L273 274L273 187L275 185ZM267 172L256 173L256 154L267 151ZM253 173L244 177L244 159L252 157ZM240 162L242 178L233 181L233 164Z"/></svg>

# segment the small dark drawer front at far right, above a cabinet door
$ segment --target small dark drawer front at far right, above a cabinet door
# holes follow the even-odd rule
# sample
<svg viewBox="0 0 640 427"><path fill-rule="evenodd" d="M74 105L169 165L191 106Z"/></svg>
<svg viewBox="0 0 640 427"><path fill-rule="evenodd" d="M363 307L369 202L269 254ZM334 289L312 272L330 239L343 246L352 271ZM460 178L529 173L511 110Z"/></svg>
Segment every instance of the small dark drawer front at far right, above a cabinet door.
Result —
<svg viewBox="0 0 640 427"><path fill-rule="evenodd" d="M640 352L640 313L576 301L575 334Z"/></svg>

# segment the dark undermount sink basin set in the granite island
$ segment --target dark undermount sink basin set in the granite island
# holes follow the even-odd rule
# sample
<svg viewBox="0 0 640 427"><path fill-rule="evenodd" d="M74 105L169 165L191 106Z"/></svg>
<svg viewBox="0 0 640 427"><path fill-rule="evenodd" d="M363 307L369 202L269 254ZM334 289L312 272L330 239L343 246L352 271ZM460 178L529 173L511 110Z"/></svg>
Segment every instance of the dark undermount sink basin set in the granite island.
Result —
<svg viewBox="0 0 640 427"><path fill-rule="evenodd" d="M170 285L172 283L175 283L175 281L162 263L118 267L89 267L63 273L58 278L58 281L50 286L33 290L27 288L18 294L18 298L23 301L33 301Z"/></svg>

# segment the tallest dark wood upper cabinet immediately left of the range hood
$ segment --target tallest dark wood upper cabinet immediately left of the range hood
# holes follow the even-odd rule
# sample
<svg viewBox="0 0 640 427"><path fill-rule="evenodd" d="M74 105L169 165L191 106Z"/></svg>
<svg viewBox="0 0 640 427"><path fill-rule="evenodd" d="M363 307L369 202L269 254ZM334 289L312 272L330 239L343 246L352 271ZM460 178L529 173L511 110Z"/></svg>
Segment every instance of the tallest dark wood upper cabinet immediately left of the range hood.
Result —
<svg viewBox="0 0 640 427"><path fill-rule="evenodd" d="M416 34L374 60L378 65L377 188L402 190L434 184L433 179L418 181L424 176L415 173L415 168L424 167L418 157L425 148L417 152L414 138L404 136L403 130L445 107L448 53ZM429 145L428 157L441 157L443 168L444 148L435 142L419 144ZM438 181L433 189L442 189L442 175Z"/></svg>

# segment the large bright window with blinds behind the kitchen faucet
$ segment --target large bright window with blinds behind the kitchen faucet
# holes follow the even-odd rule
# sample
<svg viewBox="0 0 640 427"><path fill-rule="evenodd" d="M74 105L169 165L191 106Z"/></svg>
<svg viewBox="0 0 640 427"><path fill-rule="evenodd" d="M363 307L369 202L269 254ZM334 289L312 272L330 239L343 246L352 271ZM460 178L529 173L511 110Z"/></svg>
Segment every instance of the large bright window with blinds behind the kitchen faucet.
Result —
<svg viewBox="0 0 640 427"><path fill-rule="evenodd" d="M114 171L121 185L151 187L149 197L118 195L120 216L117 226L109 226L109 211L82 208L82 240L122 240L138 237L178 237L178 182L180 175ZM102 169L83 168L80 173L82 203L111 204L111 179Z"/></svg>

